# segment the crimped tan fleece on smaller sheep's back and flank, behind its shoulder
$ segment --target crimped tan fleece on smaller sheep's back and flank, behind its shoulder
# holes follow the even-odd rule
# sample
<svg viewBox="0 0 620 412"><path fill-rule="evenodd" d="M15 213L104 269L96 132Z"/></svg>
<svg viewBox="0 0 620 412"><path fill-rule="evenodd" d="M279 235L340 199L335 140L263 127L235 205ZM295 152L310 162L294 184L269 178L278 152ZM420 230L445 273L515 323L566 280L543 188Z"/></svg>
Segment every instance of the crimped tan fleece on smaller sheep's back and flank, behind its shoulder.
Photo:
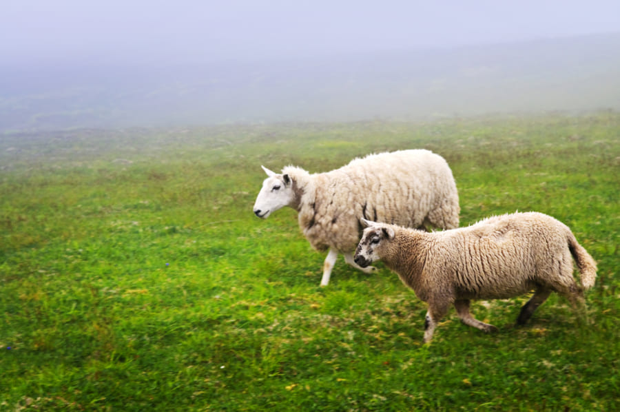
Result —
<svg viewBox="0 0 620 412"><path fill-rule="evenodd" d="M570 287L567 231L544 214L495 216L446 232L439 243L445 250L434 251L433 267L449 273L462 298L510 298L537 285Z"/></svg>

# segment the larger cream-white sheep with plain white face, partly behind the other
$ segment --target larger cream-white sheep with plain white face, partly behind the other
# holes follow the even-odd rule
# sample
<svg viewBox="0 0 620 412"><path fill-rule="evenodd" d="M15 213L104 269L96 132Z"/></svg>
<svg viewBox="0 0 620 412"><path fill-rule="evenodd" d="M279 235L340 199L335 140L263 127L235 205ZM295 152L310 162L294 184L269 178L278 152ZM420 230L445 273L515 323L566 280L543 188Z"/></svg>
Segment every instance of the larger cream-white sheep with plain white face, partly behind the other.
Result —
<svg viewBox="0 0 620 412"><path fill-rule="evenodd" d="M254 203L254 214L267 218L281 207L298 212L299 227L310 245L329 249L321 286L329 283L338 254L356 269L353 251L362 234L362 218L406 227L459 225L459 197L448 163L428 150L402 150L355 158L331 172L309 174L287 166L267 176Z"/></svg>

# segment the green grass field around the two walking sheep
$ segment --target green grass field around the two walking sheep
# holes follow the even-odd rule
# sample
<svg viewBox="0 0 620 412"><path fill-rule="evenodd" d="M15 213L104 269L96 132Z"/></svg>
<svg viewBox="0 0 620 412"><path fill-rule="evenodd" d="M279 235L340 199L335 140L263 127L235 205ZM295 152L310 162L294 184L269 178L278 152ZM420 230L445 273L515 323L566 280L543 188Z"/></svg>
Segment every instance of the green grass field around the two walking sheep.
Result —
<svg viewBox="0 0 620 412"><path fill-rule="evenodd" d="M427 148L461 225L535 210L599 264L580 326L555 294L476 302L422 344L426 307L382 264L324 255L264 173ZM1 411L620 409L620 114L0 136Z"/></svg>

